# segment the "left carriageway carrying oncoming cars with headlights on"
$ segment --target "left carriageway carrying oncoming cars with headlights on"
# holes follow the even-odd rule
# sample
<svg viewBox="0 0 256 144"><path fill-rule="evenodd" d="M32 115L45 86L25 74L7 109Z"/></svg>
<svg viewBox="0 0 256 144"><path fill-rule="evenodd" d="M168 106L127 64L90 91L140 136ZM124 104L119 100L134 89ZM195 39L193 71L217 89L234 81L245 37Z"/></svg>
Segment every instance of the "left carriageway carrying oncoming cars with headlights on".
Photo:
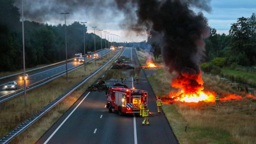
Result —
<svg viewBox="0 0 256 144"><path fill-rule="evenodd" d="M102 55L104 55L106 52L108 52L109 49L102 49L101 51L97 51L96 53L99 55L99 57ZM91 58L85 58L86 61L89 61L93 59L93 57ZM82 63L79 63L79 61L71 61L67 63L67 69L72 69L76 66L81 65ZM29 86L31 84L35 84L38 83L44 79L47 79L49 77L52 77L54 75L57 75L59 73L65 72L66 71L66 63L61 64L61 65L56 65L56 66L51 66L45 69L41 69L38 71L32 71L29 72L29 80L26 81L26 86ZM11 77L11 78L6 78L6 79L2 79L0 80L0 98L6 97L7 95L10 95L12 93L15 93L17 91L19 91L20 89L23 89L24 87L24 81L23 80L19 80L20 75L17 75L15 77ZM8 81L16 81L17 82L17 89L15 90L5 90L4 86Z"/></svg>

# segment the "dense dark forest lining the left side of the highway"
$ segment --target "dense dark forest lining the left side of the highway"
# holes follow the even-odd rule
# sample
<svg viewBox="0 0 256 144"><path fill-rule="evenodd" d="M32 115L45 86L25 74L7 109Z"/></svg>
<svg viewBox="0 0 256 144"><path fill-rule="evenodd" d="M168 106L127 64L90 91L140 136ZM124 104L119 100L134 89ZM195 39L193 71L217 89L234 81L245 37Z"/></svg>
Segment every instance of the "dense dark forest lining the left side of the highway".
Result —
<svg viewBox="0 0 256 144"><path fill-rule="evenodd" d="M84 33L87 26L75 21L67 25L67 57L84 53ZM104 37L102 35L102 37ZM49 25L24 21L26 67L65 60L65 25ZM107 41L108 43L108 41ZM111 43L110 43L111 45ZM122 43L133 46L134 43ZM105 48L105 39L102 39ZM96 50L101 49L100 37L96 35ZM85 34L85 51L94 51L93 33ZM0 72L23 68L22 23L13 0L0 0Z"/></svg>

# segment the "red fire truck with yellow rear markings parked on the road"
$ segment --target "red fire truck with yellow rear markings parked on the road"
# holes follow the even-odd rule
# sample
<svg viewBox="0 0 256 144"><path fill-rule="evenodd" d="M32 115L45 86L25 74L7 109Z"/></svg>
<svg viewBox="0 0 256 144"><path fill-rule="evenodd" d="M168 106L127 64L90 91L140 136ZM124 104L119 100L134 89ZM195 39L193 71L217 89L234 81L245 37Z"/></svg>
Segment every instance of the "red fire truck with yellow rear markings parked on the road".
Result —
<svg viewBox="0 0 256 144"><path fill-rule="evenodd" d="M148 92L140 89L111 86L106 92L108 112L116 111L119 115L140 113L140 104L148 101Z"/></svg>

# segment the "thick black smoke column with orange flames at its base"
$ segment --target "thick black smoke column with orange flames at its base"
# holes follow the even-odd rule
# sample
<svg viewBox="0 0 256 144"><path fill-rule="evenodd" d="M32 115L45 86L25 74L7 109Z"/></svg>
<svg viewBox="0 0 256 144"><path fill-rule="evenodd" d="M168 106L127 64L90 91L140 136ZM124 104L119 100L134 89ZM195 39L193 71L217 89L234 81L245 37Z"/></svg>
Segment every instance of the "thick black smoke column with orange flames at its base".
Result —
<svg viewBox="0 0 256 144"><path fill-rule="evenodd" d="M162 57L169 72L176 72L172 86L186 92L202 90L199 62L204 55L204 38L209 35L207 19L202 12L211 11L209 0L116 0L119 9L126 14L128 26L141 32L147 30L161 47ZM137 21L129 13L137 6Z"/></svg>

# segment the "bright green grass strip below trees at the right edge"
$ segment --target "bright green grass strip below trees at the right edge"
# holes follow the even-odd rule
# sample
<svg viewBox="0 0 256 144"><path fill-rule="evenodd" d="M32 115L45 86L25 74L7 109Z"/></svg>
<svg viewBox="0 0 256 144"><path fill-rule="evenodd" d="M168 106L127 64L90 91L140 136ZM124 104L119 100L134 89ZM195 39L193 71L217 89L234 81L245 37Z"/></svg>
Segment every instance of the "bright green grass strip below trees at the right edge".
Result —
<svg viewBox="0 0 256 144"><path fill-rule="evenodd" d="M244 72L236 69L223 68L221 74L232 81L256 86L256 73Z"/></svg>

